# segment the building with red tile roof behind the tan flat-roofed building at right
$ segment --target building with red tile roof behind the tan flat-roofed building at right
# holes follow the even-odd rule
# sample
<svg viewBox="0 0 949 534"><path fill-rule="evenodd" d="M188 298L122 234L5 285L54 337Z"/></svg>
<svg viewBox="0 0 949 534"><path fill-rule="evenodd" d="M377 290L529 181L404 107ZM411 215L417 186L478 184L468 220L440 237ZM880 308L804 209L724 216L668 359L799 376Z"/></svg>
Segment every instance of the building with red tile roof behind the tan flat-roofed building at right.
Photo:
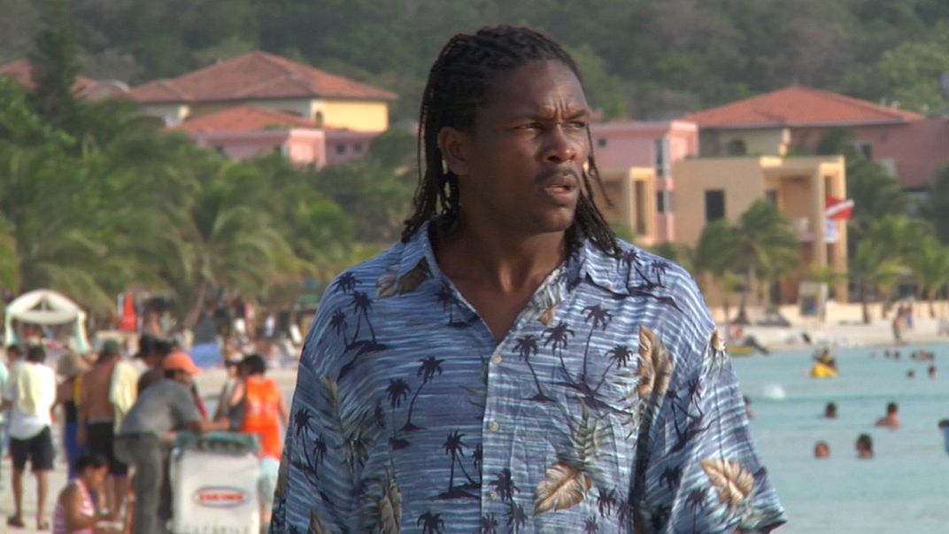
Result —
<svg viewBox="0 0 949 534"><path fill-rule="evenodd" d="M805 86L768 94L681 118L698 124L702 156L785 156L813 148L834 127L854 132L854 144L884 165L907 190L920 190L949 158L949 123Z"/></svg>

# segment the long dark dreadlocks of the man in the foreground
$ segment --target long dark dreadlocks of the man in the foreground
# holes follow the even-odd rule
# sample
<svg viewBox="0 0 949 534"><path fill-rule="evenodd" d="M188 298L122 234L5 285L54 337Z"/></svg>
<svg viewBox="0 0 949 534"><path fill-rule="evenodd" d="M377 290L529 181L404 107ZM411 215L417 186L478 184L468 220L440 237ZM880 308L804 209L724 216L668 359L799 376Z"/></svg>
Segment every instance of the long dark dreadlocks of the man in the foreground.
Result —
<svg viewBox="0 0 949 534"><path fill-rule="evenodd" d="M458 177L443 168L438 132L444 127L470 130L474 113L484 105L484 95L494 77L532 62L557 61L580 80L580 71L569 54L548 36L528 28L497 26L479 29L474 35L458 33L441 48L428 74L419 112L419 187L413 200L415 213L405 220L402 241L408 241L427 220L439 230L448 230L458 220ZM586 236L610 256L621 253L616 234L593 202L595 180L603 189L600 171L593 160L589 128L586 141L589 156L583 170L584 190L577 201L576 215L567 232L571 249ZM424 165L422 159L424 158ZM607 200L608 201L608 200Z"/></svg>

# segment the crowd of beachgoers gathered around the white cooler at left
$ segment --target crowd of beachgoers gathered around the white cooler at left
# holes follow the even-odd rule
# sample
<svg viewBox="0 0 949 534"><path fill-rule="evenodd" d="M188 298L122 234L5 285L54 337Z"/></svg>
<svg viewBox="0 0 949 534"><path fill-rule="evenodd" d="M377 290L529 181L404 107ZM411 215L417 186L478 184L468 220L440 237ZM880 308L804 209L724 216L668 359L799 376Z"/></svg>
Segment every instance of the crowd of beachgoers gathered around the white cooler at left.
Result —
<svg viewBox="0 0 949 534"><path fill-rule="evenodd" d="M184 432L209 431L255 436L266 524L287 401L266 376L272 360L252 352L246 337L215 343L227 378L213 411L194 382L202 368L177 338L141 334L134 354L113 338L96 353L55 358L36 338L7 347L0 362L0 443L3 461L12 463L13 513L6 525L22 528L30 519L54 534L166 532L174 514L171 451ZM68 466L63 488L49 487L56 461ZM24 516L27 464L36 479L35 518Z"/></svg>

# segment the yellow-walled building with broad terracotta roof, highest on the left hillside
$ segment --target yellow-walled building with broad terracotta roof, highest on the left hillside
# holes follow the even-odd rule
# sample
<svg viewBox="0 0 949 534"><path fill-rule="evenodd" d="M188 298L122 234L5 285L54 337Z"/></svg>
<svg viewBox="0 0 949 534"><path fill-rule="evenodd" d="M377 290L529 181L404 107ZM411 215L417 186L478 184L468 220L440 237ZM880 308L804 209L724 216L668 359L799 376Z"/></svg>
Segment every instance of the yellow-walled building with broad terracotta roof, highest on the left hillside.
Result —
<svg viewBox="0 0 949 534"><path fill-rule="evenodd" d="M166 125L254 105L291 113L317 128L381 132L395 93L265 52L251 52L170 80L135 87L129 96Z"/></svg>

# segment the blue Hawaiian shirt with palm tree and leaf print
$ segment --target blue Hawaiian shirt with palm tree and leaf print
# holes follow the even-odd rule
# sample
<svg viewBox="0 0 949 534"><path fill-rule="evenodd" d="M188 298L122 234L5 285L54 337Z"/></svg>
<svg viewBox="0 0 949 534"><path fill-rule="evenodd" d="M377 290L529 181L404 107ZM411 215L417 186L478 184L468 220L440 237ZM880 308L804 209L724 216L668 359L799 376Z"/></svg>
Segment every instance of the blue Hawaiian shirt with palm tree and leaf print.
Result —
<svg viewBox="0 0 949 534"><path fill-rule="evenodd" d="M497 343L427 227L337 277L274 532L768 531L786 521L692 277L589 241Z"/></svg>

